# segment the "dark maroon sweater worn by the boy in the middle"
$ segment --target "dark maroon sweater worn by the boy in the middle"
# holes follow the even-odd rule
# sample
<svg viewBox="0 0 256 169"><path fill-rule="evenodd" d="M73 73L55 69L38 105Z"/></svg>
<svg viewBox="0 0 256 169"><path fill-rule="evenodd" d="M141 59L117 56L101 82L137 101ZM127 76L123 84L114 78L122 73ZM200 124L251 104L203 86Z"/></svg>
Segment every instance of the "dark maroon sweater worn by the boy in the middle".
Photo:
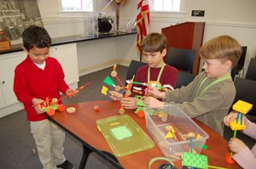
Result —
<svg viewBox="0 0 256 169"><path fill-rule="evenodd" d="M150 68L150 81L156 81L157 77L159 75L161 68ZM148 65L144 65L143 67L140 67L137 70L136 76L135 76L135 82L148 82ZM166 65L162 75L160 76L160 84L163 85L171 85L173 88L176 87L177 82L177 69L175 67L172 67L171 65ZM145 95L144 90L146 89L146 86L143 85L137 85L134 84L133 89L136 89L137 87L141 87L143 91L143 95ZM132 93L132 96L134 95L141 95L138 93Z"/></svg>

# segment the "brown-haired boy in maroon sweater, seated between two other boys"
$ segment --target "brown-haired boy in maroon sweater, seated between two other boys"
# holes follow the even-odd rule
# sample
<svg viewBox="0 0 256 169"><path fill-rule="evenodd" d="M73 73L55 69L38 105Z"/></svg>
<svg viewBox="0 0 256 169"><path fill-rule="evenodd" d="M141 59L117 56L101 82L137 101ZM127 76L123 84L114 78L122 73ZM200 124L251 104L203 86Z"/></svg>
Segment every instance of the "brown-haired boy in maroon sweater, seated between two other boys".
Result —
<svg viewBox="0 0 256 169"><path fill-rule="evenodd" d="M135 82L154 82L160 86L168 85L173 88L176 87L177 82L177 69L171 65L166 65L164 57L166 56L166 37L160 33L150 33L144 38L142 42L143 57L148 65L140 67L135 76ZM129 79L127 79L129 80ZM146 86L134 84L134 89L143 92ZM121 104L125 109L136 109L137 101L133 96L137 93L132 93L131 97L123 98L123 94L110 91L110 98L113 100L121 100Z"/></svg>

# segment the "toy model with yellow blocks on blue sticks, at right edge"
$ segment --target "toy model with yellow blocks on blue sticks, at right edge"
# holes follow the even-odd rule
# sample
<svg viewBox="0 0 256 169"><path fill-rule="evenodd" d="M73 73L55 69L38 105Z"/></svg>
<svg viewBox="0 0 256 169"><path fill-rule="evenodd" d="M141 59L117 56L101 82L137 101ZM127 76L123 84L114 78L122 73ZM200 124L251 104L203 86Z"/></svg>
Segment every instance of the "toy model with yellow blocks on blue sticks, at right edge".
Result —
<svg viewBox="0 0 256 169"><path fill-rule="evenodd" d="M253 104L248 104L241 100L238 100L236 104L233 105L232 109L238 112L236 119L230 122L230 128L234 131L233 138L236 138L237 130L244 130L246 128L246 125L242 121L242 115L246 115L252 108ZM235 164L235 161L232 159L232 152L227 154L225 159L227 163Z"/></svg>

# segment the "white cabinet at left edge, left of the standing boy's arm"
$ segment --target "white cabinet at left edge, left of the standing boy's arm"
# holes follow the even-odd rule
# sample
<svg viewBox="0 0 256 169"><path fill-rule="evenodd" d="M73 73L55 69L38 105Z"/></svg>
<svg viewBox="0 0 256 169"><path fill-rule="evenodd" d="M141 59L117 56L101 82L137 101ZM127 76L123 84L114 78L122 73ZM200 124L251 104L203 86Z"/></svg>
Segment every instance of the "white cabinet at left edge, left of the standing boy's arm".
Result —
<svg viewBox="0 0 256 169"><path fill-rule="evenodd" d="M16 52L12 54L0 55L0 108L15 104L18 102L14 93L15 67L26 58L25 52Z"/></svg>

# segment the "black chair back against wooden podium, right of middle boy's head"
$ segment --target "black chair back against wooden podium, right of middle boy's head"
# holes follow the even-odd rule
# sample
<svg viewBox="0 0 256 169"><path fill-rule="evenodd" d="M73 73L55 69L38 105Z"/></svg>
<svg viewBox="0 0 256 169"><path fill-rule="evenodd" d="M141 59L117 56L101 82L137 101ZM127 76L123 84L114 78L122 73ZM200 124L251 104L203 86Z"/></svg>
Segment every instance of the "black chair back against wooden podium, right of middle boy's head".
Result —
<svg viewBox="0 0 256 169"><path fill-rule="evenodd" d="M183 48L169 48L166 55L166 64L176 67L177 70L192 73L195 59L195 50Z"/></svg>

